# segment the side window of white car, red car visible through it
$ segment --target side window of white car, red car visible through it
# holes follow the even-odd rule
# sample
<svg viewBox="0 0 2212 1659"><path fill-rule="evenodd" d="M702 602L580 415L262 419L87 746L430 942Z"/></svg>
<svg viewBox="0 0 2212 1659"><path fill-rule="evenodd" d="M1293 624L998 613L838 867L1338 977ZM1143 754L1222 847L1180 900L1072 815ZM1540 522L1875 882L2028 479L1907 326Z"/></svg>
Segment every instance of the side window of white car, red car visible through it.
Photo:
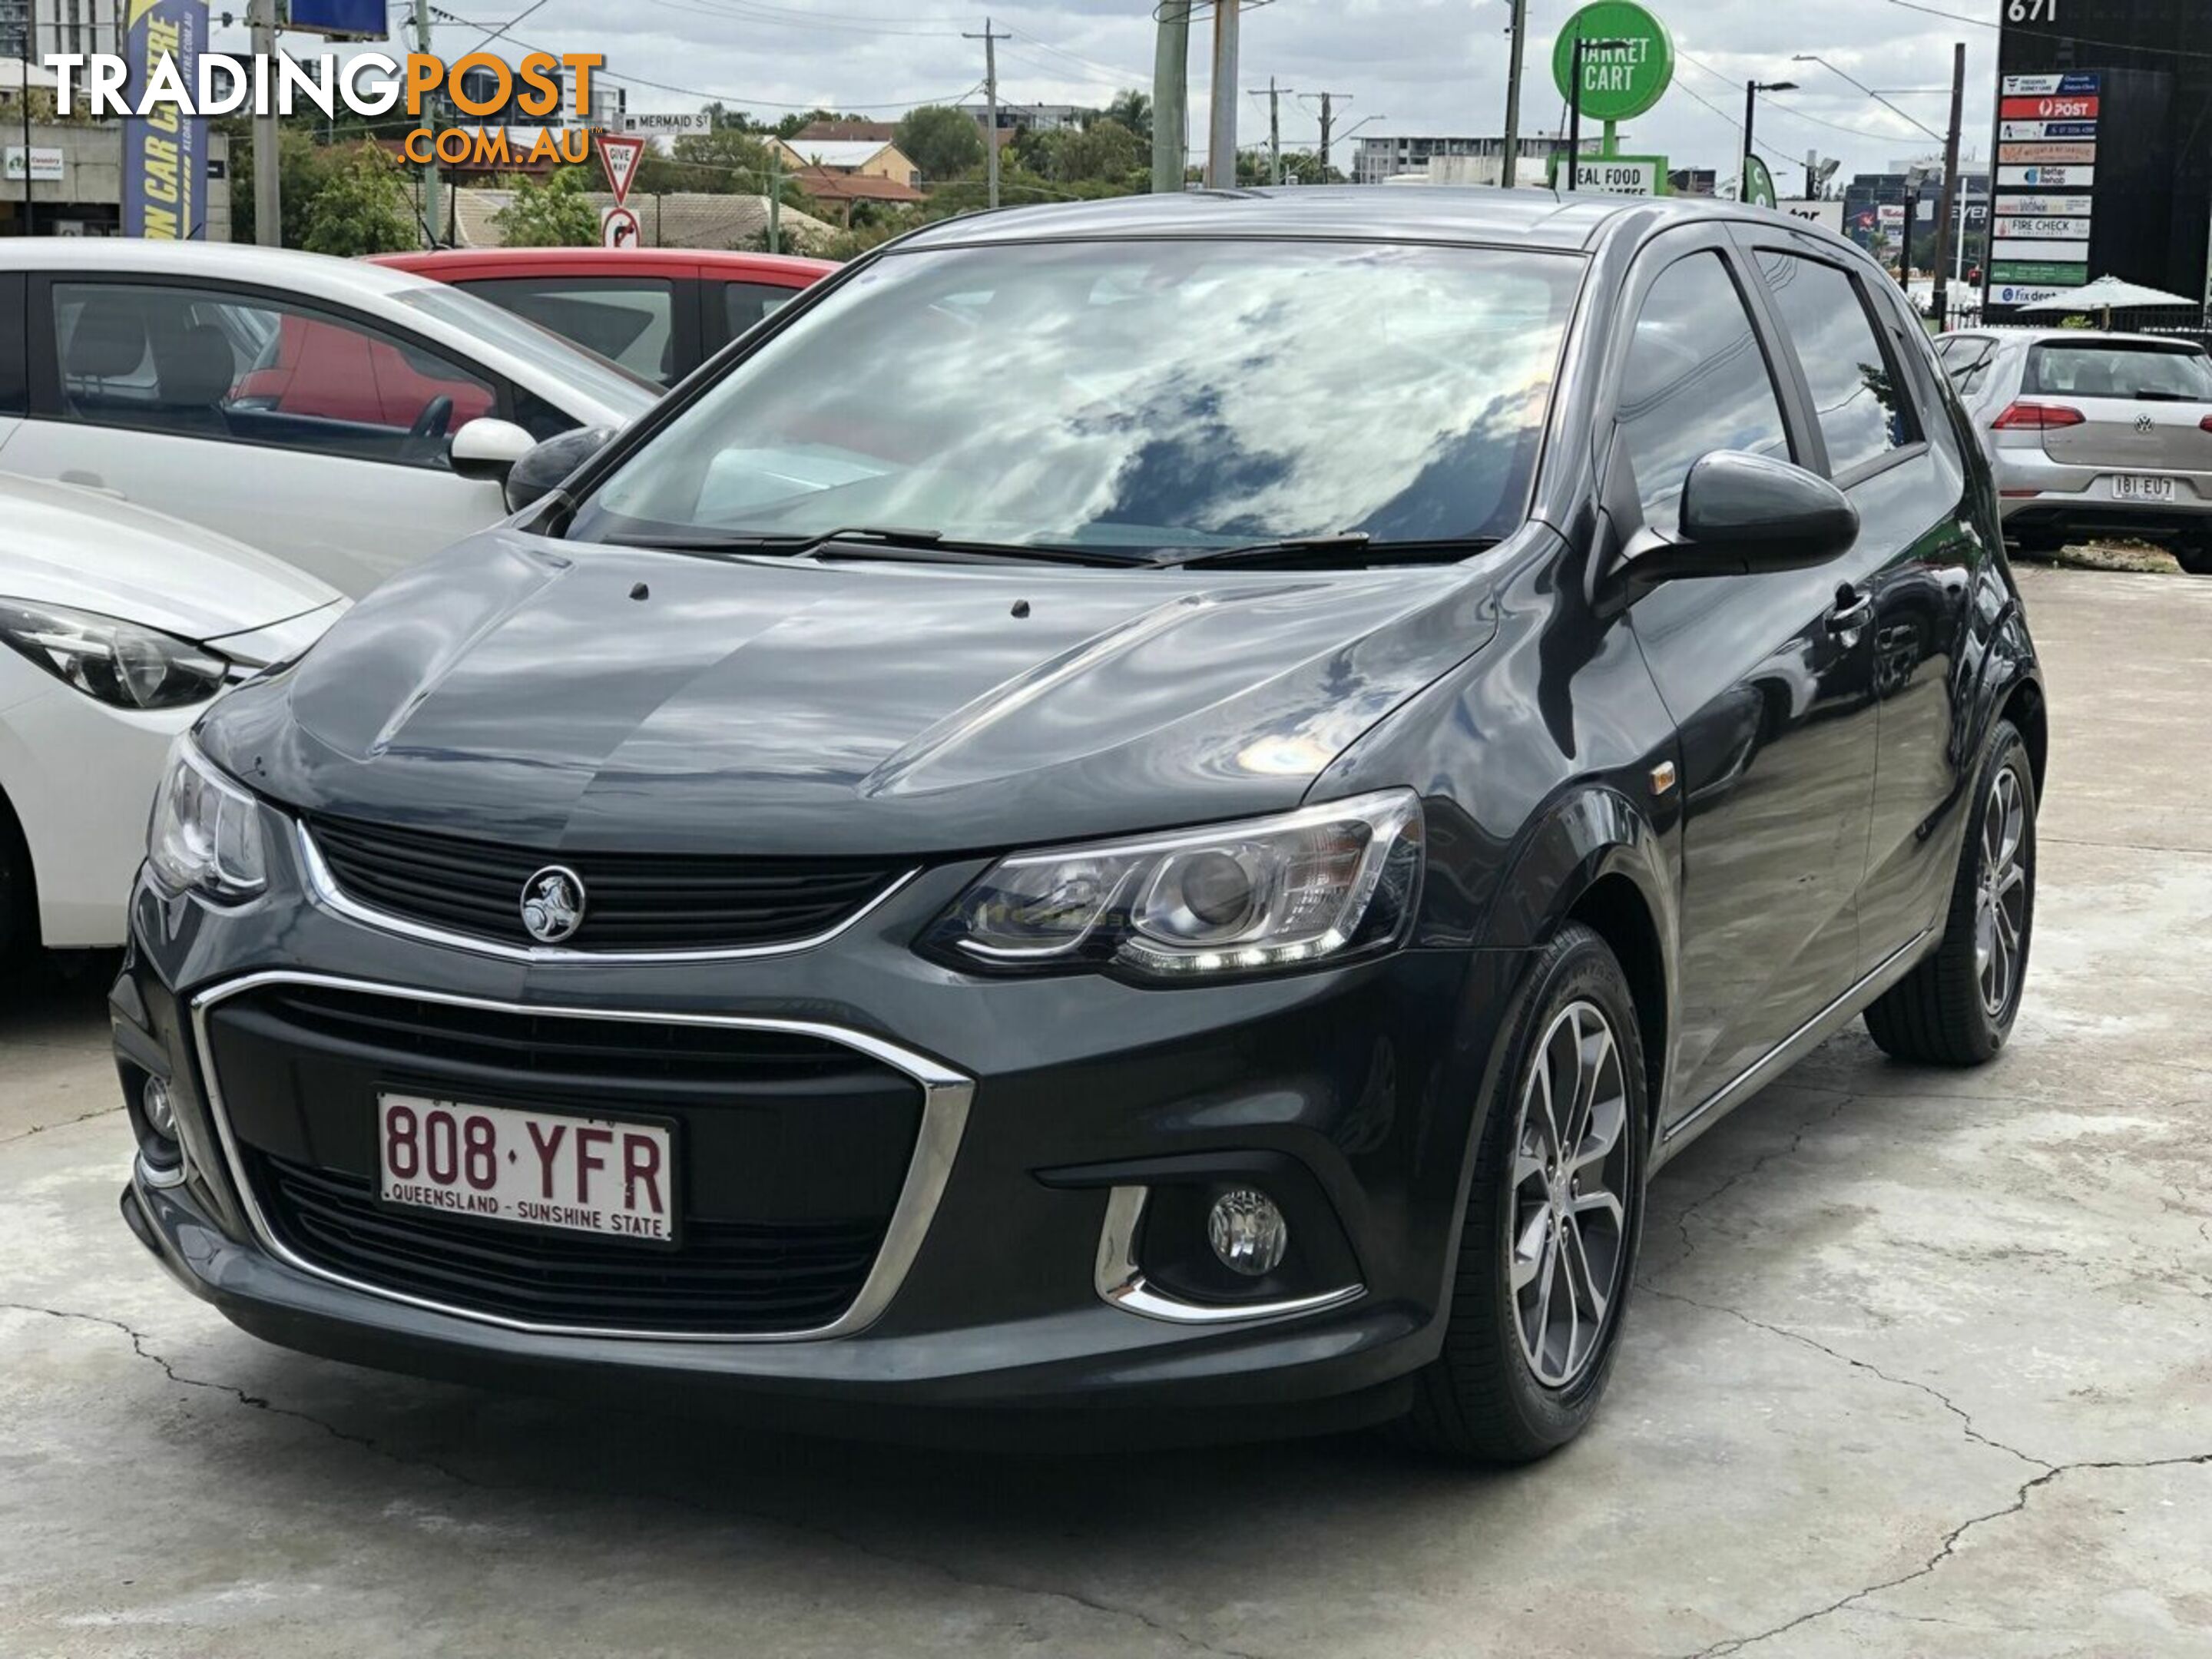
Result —
<svg viewBox="0 0 2212 1659"><path fill-rule="evenodd" d="M62 416L405 467L449 465L491 383L378 330L206 288L55 283Z"/></svg>

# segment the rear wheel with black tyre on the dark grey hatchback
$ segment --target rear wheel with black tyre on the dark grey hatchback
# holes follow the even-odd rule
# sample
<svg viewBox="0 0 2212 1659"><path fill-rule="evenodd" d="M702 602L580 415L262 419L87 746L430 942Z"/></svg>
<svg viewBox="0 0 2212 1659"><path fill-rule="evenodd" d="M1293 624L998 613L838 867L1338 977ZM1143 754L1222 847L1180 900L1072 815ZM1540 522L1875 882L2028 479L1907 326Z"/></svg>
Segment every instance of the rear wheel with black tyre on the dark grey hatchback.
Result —
<svg viewBox="0 0 2212 1659"><path fill-rule="evenodd" d="M2011 721L1997 721L1960 847L1942 945L1867 1009L1885 1053L1927 1066L1980 1066L2020 1018L2035 933L2035 772Z"/></svg>

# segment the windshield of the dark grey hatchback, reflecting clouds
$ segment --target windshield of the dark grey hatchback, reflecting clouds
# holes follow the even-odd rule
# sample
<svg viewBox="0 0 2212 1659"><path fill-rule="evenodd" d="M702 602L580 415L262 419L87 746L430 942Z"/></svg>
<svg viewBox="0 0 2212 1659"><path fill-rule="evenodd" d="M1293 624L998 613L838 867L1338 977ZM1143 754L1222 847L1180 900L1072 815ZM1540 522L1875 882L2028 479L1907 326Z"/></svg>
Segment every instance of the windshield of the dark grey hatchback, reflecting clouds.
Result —
<svg viewBox="0 0 2212 1659"><path fill-rule="evenodd" d="M1208 549L1493 540L1528 511L1582 261L1340 241L894 254L730 369L580 540Z"/></svg>

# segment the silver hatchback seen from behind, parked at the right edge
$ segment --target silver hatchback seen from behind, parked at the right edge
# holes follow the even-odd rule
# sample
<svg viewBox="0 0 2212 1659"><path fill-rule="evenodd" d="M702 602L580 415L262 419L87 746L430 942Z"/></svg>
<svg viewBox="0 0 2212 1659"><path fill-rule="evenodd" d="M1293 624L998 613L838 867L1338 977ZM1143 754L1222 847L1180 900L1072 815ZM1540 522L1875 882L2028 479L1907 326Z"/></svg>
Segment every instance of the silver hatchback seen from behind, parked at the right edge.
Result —
<svg viewBox="0 0 2212 1659"><path fill-rule="evenodd" d="M2190 341L1964 330L1936 343L1997 469L2006 540L2161 542L2212 575L2212 356Z"/></svg>

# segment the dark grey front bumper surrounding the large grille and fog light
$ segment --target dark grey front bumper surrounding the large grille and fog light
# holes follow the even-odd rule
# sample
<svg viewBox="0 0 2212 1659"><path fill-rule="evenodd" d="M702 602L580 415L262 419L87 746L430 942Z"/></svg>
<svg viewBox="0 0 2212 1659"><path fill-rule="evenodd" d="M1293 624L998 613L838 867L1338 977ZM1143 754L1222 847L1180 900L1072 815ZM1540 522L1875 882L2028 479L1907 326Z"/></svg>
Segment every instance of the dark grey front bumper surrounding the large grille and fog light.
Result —
<svg viewBox="0 0 2212 1659"><path fill-rule="evenodd" d="M416 1374L734 1400L765 1422L931 1438L980 1416L993 1438L1009 1416L1057 1438L1066 1409L1097 1438L1099 1407L1121 1407L1113 1438L1146 1442L1400 1411L1409 1374L1442 1340L1482 1066L1522 956L1405 951L1172 991L1102 975L978 980L909 949L975 872L927 872L827 947L619 967L507 962L387 933L310 900L299 872L274 872L272 891L239 911L142 883L113 1000L117 1057L126 1097L146 1075L170 1084L186 1168L142 1161L126 1219L243 1329ZM502 1321L330 1272L259 1212L254 1177L226 1144L206 1011L261 975L334 964L347 982L487 1009L803 1024L929 1068L936 1130L925 1121L869 1287L827 1327L721 1340ZM330 1124L363 1110L356 1093L303 1084L296 1104L303 1121ZM144 1135L135 1104L133 1119ZM1181 1243L1137 1241L1141 1197L1208 1179L1294 1194L1294 1234L1327 1234L1312 1276L1252 1305L1146 1283L1141 1256Z"/></svg>

